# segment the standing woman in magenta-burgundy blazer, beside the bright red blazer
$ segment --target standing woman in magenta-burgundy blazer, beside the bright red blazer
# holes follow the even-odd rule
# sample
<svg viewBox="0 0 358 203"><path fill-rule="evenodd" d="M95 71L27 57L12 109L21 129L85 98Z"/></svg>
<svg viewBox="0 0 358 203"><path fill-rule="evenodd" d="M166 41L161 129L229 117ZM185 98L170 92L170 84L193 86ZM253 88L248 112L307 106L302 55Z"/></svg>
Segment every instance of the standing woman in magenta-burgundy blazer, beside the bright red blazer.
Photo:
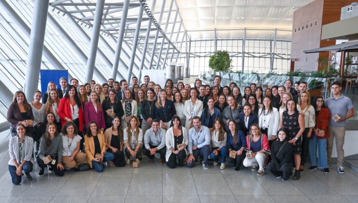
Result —
<svg viewBox="0 0 358 203"><path fill-rule="evenodd" d="M103 114L102 104L98 102L98 94L95 91L92 91L89 94L89 100L84 104L84 124L88 126L88 123L91 121L96 121L98 129L104 131L106 128L105 116Z"/></svg>

